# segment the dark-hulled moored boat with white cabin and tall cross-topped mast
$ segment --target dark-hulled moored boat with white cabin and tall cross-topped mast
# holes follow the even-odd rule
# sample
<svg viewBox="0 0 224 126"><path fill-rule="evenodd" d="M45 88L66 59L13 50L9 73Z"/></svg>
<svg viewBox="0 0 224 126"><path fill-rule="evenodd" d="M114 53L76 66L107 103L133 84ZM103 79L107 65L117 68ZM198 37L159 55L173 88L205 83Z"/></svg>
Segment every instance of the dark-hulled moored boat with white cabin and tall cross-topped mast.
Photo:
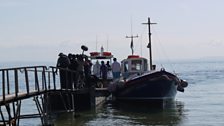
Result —
<svg viewBox="0 0 224 126"><path fill-rule="evenodd" d="M150 22L144 23L149 27L149 70L148 60L139 55L129 55L121 61L121 74L119 80L114 80L109 86L113 98L116 101L167 101L174 100L177 91L184 92L188 83L180 79L174 73L167 72L164 68L156 70L156 65L152 64L151 52L151 32ZM133 46L133 37L131 36L131 45Z"/></svg>

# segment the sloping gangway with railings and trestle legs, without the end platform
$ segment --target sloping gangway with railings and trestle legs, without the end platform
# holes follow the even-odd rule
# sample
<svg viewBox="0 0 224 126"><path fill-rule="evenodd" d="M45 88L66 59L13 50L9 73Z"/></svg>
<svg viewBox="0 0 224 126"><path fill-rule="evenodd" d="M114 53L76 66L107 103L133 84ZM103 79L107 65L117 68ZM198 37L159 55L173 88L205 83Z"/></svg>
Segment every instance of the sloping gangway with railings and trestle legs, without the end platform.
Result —
<svg viewBox="0 0 224 126"><path fill-rule="evenodd" d="M57 69L59 72L57 73ZM72 76L76 71L65 68L46 67L46 66L30 66L0 69L0 123L11 125L12 120L16 120L19 124L19 118L46 116L47 101L44 102L46 94L57 92L67 93L77 90L74 81L66 81L65 86L61 84L60 71L65 71L63 79L72 80ZM73 79L74 80L74 79ZM71 85L72 86L69 86ZM69 87L69 88L67 88ZM79 87L80 88L80 87ZM21 101L23 99L34 98L39 114L20 115ZM41 98L39 102L39 98ZM42 104L41 104L42 103ZM5 108L4 110L2 110ZM74 109L74 108L72 108ZM6 114L8 115L6 117ZM41 118L42 119L42 118ZM42 119L45 124L46 118Z"/></svg>

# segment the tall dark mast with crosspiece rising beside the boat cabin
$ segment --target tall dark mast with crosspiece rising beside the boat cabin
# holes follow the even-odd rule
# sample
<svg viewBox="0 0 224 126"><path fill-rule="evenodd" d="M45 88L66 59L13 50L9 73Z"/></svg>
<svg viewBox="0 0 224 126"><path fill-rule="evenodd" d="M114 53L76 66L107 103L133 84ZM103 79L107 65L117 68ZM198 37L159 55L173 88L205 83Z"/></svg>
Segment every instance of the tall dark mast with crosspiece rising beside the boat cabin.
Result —
<svg viewBox="0 0 224 126"><path fill-rule="evenodd" d="M149 61L150 61L150 70L152 70L152 48L151 48L151 28L150 25L152 24L157 24L157 23L151 23L150 21L150 17L148 17L148 22L147 23L142 23L142 24L146 24L148 25L148 29L149 29L149 43L147 45L147 48L149 48Z"/></svg>

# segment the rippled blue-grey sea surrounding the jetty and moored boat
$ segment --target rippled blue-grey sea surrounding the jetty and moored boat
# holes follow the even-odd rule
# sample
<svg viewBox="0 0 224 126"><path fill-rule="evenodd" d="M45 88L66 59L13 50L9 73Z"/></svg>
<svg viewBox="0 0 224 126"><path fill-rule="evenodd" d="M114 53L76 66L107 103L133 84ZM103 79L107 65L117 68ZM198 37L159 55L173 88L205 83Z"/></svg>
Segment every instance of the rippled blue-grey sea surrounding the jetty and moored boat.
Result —
<svg viewBox="0 0 224 126"><path fill-rule="evenodd" d="M224 126L224 60L156 64L158 70L163 67L188 82L184 93L178 92L174 101L163 107L105 102L88 111L60 113L52 117L52 123L55 126ZM0 68L7 65L0 63ZM13 66L16 63L10 67ZM37 112L31 101L22 102L21 113ZM21 119L20 125L40 126L41 120Z"/></svg>

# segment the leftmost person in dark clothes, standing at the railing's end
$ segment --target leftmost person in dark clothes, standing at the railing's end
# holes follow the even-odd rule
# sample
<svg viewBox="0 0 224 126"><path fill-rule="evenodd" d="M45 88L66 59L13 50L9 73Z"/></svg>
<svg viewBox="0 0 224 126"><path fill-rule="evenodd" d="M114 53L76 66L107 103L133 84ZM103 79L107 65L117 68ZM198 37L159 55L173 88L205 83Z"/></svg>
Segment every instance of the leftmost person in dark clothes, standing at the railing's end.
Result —
<svg viewBox="0 0 224 126"><path fill-rule="evenodd" d="M60 72L61 88L66 89L68 87L67 85L69 85L68 72L66 69L68 69L70 60L69 60L68 56L66 56L63 53L59 53L58 56L59 56L59 58L58 58L56 67L59 68L59 72ZM57 69L56 69L56 73L57 73Z"/></svg>

